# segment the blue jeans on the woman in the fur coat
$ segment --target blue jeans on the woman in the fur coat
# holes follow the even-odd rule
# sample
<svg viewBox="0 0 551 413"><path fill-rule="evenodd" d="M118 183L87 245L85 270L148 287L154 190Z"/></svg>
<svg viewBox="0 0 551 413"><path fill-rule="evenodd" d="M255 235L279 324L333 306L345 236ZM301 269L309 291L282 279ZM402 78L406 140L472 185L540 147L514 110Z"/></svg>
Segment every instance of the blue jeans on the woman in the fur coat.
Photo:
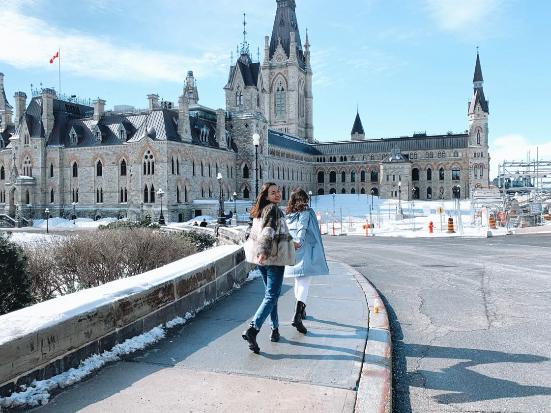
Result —
<svg viewBox="0 0 551 413"><path fill-rule="evenodd" d="M285 267L277 265L259 265L258 270L262 274L262 282L266 288L266 294L262 304L256 310L256 314L252 317L251 324L257 330L260 330L268 315L270 316L270 327L279 328L279 320L277 316L277 300L281 294L283 285L283 273Z"/></svg>

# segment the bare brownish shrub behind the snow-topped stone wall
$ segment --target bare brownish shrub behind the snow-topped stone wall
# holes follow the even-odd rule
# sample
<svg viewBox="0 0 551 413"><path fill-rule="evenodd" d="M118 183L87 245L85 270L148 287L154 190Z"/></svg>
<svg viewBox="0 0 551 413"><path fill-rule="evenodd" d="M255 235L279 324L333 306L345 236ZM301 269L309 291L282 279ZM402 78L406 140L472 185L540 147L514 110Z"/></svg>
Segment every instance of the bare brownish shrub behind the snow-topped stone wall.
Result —
<svg viewBox="0 0 551 413"><path fill-rule="evenodd" d="M33 291L41 300L134 276L197 252L190 240L149 228L83 232L25 249Z"/></svg>

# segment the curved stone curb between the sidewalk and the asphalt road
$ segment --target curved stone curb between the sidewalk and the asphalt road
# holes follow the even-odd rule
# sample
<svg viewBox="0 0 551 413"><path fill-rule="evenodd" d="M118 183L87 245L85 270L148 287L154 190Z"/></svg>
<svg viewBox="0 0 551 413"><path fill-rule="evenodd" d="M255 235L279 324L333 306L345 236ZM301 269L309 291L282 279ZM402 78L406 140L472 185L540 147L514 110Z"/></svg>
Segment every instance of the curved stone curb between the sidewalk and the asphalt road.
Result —
<svg viewBox="0 0 551 413"><path fill-rule="evenodd" d="M392 339L385 305L375 287L363 274L344 262L334 261L356 278L369 306L368 340L356 393L355 413L391 413ZM379 301L378 313L374 310L375 300Z"/></svg>

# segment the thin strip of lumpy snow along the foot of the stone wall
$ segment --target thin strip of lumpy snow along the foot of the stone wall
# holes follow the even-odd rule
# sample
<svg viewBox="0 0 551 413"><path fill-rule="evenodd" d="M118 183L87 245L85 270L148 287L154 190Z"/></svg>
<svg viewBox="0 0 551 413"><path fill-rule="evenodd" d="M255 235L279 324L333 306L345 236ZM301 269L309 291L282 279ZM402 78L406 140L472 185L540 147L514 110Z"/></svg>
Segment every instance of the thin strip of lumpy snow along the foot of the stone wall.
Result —
<svg viewBox="0 0 551 413"><path fill-rule="evenodd" d="M249 273L247 278L244 280L244 283L258 277L260 277L260 271L255 269ZM234 284L234 289L235 288L241 288L241 285ZM51 390L58 387L65 388L82 380L84 377L90 375L90 373L98 370L98 368L104 366L108 362L120 360L123 355L133 353L133 351L136 350L142 350L148 345L158 342L160 339L165 337L167 329L182 326L190 320L190 318L195 317L197 312L203 310L204 307L210 304L210 301L205 301L203 305L198 307L195 312L186 312L185 317L176 317L166 322L164 327L163 324L159 324L159 326L154 327L146 333L137 335L136 337L125 340L123 343L115 345L111 350L105 350L101 354L93 354L88 357L88 359L81 361L79 367L77 368L71 368L66 372L46 380L35 380L29 387L20 386L20 392L13 393L6 398L0 397L0 410L2 408L10 408L15 406L38 406L39 404L47 404L50 401Z"/></svg>

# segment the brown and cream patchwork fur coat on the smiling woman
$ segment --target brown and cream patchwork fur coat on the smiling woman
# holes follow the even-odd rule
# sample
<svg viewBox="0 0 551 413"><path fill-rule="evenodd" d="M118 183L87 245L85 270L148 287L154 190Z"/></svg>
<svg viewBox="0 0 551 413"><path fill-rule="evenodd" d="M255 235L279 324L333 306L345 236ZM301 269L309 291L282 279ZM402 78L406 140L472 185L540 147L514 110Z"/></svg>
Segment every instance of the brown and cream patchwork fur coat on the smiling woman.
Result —
<svg viewBox="0 0 551 413"><path fill-rule="evenodd" d="M295 265L295 246L289 234L285 216L279 207L270 203L262 210L260 218L253 219L251 234L245 242L247 262L258 264L258 256L268 258L263 265Z"/></svg>

